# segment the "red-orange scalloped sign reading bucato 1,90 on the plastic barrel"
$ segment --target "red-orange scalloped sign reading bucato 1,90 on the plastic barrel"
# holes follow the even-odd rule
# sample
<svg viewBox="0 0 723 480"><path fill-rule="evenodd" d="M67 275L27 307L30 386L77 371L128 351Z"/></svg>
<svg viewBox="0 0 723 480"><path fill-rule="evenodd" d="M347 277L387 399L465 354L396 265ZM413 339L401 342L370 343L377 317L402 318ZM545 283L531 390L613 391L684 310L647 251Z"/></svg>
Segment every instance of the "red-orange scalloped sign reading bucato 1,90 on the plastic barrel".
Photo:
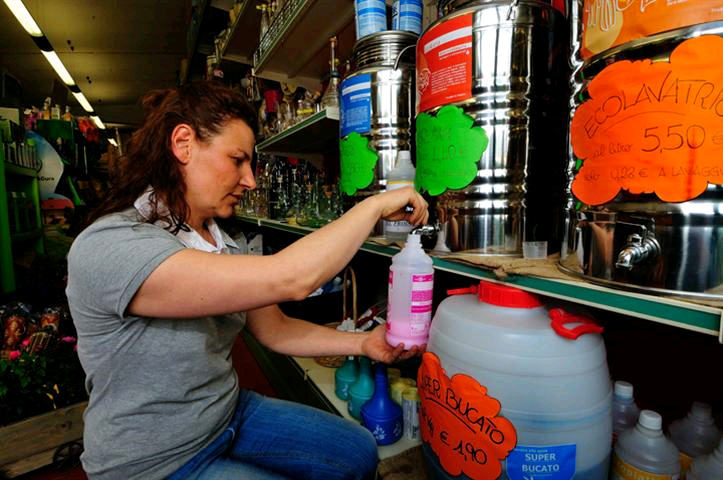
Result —
<svg viewBox="0 0 723 480"><path fill-rule="evenodd" d="M500 402L468 375L447 377L431 352L422 356L417 387L422 440L437 454L442 468L473 480L498 478L502 460L517 444L512 423L497 416Z"/></svg>

